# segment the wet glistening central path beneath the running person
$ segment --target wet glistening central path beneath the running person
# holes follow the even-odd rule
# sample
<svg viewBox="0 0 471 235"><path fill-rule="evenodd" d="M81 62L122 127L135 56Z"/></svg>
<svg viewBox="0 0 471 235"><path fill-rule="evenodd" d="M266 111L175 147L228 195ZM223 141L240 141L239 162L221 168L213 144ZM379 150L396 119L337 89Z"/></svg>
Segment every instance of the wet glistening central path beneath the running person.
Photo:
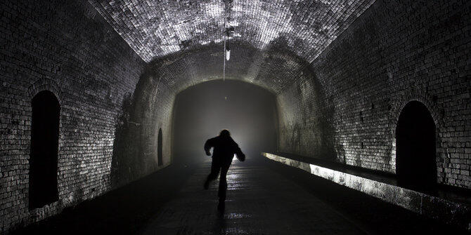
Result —
<svg viewBox="0 0 471 235"><path fill-rule="evenodd" d="M210 161L196 170L143 234L364 234L335 209L260 164L233 161L224 215L218 184L202 190Z"/></svg>

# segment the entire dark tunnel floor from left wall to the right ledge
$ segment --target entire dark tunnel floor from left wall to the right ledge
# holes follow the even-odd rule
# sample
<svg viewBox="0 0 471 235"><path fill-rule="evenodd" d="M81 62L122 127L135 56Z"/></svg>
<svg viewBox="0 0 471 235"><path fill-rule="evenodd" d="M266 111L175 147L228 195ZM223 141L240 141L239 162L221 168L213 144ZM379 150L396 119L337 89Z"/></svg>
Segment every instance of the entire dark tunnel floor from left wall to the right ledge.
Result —
<svg viewBox="0 0 471 235"><path fill-rule="evenodd" d="M233 161L226 210L210 159L171 166L14 234L461 234L408 210L262 156Z"/></svg>

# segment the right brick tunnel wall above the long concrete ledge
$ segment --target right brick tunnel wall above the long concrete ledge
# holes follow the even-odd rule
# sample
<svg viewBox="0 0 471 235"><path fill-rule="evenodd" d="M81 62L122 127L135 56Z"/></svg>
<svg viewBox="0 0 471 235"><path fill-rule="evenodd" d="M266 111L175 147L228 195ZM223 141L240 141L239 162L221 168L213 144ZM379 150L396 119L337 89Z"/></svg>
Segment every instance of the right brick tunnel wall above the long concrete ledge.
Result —
<svg viewBox="0 0 471 235"><path fill-rule="evenodd" d="M438 182L471 189L470 9L376 1L278 95L279 151L394 173L396 121L419 100L437 126Z"/></svg>

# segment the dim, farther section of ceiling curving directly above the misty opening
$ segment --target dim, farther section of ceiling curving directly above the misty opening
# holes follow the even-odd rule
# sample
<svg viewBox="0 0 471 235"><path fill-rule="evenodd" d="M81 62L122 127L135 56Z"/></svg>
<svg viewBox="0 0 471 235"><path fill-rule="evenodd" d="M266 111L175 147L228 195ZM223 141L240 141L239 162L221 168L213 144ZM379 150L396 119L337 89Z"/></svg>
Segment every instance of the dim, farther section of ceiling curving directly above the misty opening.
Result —
<svg viewBox="0 0 471 235"><path fill-rule="evenodd" d="M223 78L224 44L209 43L155 58L147 75L179 93L198 83ZM234 41L231 60L226 61L226 79L240 79L280 93L299 76L309 74L309 62L296 55L284 37L259 49L247 41ZM304 74L303 74L304 73Z"/></svg>

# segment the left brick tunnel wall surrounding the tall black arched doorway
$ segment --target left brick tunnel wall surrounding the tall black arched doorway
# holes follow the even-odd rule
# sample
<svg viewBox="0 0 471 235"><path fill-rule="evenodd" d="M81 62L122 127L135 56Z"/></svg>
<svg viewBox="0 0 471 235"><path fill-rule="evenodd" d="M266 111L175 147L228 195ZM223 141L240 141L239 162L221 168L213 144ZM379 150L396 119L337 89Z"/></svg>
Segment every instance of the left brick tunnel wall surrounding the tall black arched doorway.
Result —
<svg viewBox="0 0 471 235"><path fill-rule="evenodd" d="M148 76L146 63L95 8L83 1L0 6L0 233L169 164L173 93L165 86L153 90L157 105L167 107L159 112L133 95ZM41 90L51 90L61 107L59 201L29 210L31 101ZM136 114L138 107L146 116ZM162 166L156 163L158 128L164 134ZM117 154L118 142L138 147Z"/></svg>

